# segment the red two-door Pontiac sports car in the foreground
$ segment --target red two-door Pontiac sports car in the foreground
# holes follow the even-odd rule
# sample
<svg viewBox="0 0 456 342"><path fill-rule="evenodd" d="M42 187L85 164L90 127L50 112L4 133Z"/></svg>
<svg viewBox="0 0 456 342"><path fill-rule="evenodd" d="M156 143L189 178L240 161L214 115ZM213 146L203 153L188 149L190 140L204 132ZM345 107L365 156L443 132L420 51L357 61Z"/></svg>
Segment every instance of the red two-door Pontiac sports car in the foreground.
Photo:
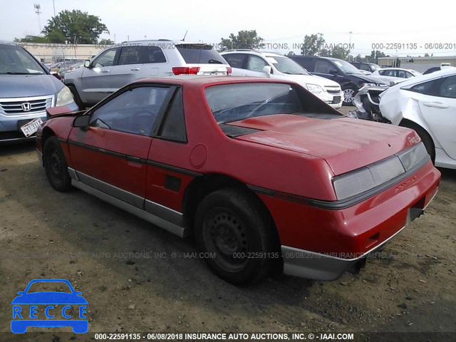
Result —
<svg viewBox="0 0 456 342"><path fill-rule="evenodd" d="M337 279L420 216L440 182L415 131L346 118L289 81L145 79L66 111L50 109L37 134L51 185L194 234L235 284L279 266Z"/></svg>

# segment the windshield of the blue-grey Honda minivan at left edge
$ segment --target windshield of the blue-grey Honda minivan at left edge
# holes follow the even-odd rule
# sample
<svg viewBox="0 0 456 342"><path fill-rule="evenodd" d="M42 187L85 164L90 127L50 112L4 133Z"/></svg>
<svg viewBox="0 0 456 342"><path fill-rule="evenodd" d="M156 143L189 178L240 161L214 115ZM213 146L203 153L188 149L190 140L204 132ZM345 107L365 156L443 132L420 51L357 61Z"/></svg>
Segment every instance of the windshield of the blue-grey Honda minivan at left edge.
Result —
<svg viewBox="0 0 456 342"><path fill-rule="evenodd" d="M0 75L42 75L41 65L24 48L0 45Z"/></svg>

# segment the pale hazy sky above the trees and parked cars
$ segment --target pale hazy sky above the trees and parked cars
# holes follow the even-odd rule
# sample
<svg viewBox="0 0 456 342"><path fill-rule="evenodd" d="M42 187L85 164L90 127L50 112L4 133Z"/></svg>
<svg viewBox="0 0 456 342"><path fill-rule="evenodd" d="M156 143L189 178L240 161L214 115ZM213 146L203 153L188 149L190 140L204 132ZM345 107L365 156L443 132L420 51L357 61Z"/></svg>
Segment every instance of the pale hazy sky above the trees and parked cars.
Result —
<svg viewBox="0 0 456 342"><path fill-rule="evenodd" d="M351 46L353 56L370 54L374 47L390 56L456 56L456 4L450 5L450 1L0 0L1 3L0 40L4 41L37 35L40 25L43 28L53 16L55 4L56 13L79 9L99 16L110 31L100 38L115 39L116 43L145 37L180 40L188 31L186 41L217 44L230 33L255 29L264 38L264 50L279 53L299 53L306 34L322 33L328 46L346 44ZM33 4L41 6L39 22Z"/></svg>

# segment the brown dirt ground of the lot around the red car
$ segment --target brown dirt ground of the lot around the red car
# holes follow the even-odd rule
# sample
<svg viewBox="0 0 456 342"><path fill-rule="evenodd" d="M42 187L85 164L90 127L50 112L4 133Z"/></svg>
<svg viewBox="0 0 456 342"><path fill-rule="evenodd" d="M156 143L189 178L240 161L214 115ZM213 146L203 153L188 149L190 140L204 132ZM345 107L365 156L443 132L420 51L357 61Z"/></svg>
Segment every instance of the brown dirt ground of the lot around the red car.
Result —
<svg viewBox="0 0 456 342"><path fill-rule="evenodd" d="M6 333L16 292L44 277L83 291L90 332L456 331L456 170L440 171L427 213L361 274L236 287L186 254L191 239L84 192L52 190L33 144L0 147L0 340L88 338Z"/></svg>

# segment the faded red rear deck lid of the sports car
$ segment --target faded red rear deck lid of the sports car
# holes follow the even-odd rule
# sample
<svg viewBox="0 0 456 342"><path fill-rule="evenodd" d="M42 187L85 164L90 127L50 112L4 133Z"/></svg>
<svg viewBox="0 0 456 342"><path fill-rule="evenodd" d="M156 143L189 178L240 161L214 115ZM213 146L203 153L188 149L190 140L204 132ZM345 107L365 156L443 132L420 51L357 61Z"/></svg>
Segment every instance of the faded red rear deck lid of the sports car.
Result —
<svg viewBox="0 0 456 342"><path fill-rule="evenodd" d="M322 120L301 115L268 115L229 125L261 130L237 140L321 157L335 175L390 157L420 140L408 128L343 116Z"/></svg>

